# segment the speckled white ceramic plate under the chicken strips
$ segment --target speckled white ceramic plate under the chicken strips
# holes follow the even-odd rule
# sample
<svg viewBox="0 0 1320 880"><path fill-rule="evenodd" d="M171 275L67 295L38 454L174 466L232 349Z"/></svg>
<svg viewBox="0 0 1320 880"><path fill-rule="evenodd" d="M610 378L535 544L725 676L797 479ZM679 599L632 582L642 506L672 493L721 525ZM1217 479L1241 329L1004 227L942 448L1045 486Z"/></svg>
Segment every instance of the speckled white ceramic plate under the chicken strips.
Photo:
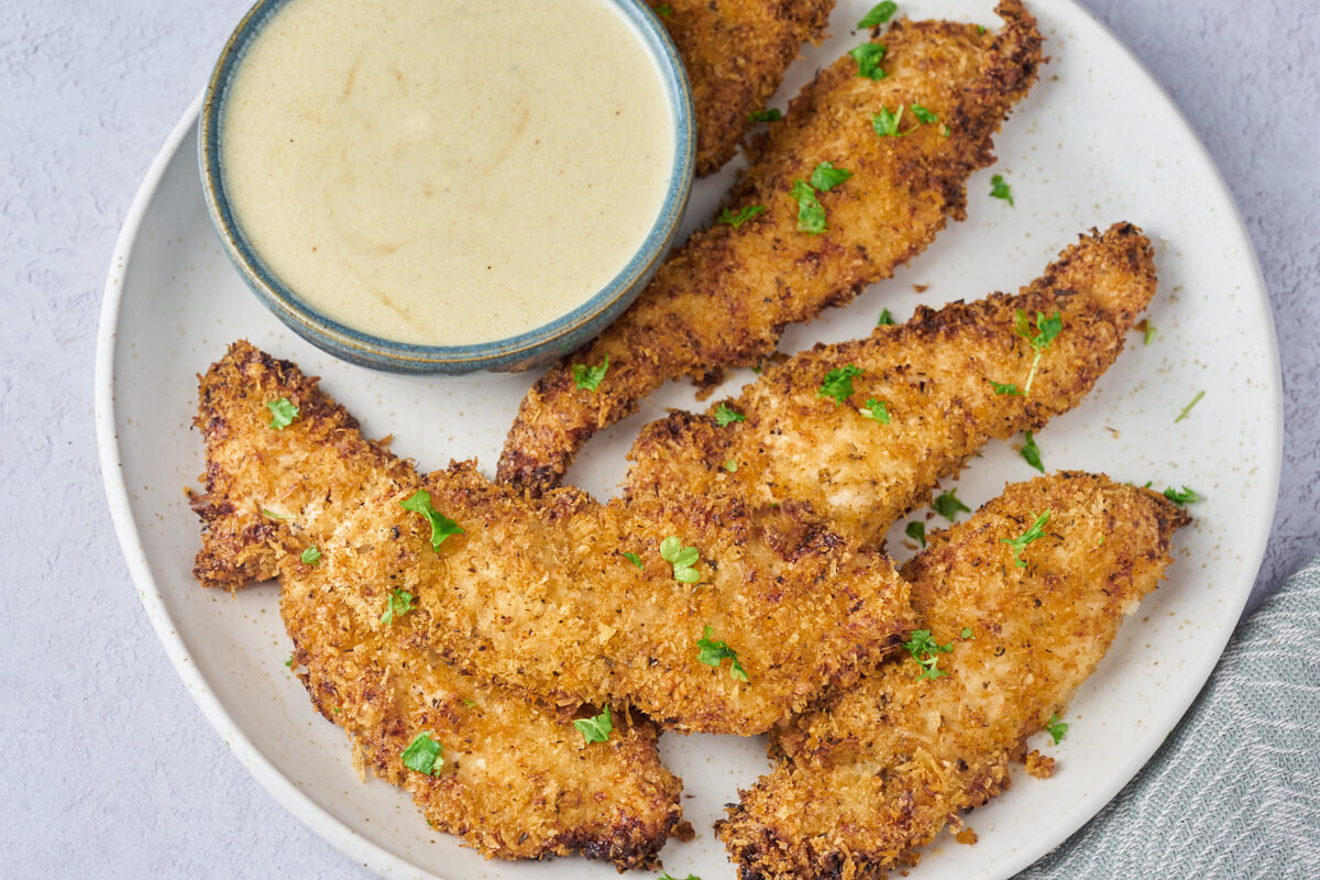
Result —
<svg viewBox="0 0 1320 880"><path fill-rule="evenodd" d="M774 106L857 42L870 0L841 1L834 36L808 49ZM1282 450L1278 352L1266 293L1232 198L1205 150L1159 86L1089 13L1067 1L1032 4L1053 61L997 140L1002 157L970 183L966 223L945 231L898 277L847 309L785 334L783 351L870 331L882 306L900 321L937 305L1016 289L1092 226L1126 219L1158 245L1160 292L1151 346L1129 351L1074 412L1038 442L1049 468L1188 484L1206 500L1176 540L1168 582L1129 620L1078 693L1055 778L1016 773L1012 790L975 810L974 847L946 835L911 877L1006 877L1096 814L1154 753L1196 697L1224 648L1265 550ZM907 9L995 24L990 0L923 0ZM486 862L433 834L384 782L359 784L338 728L317 716L284 660L289 641L269 587L236 599L191 577L198 524L183 487L202 470L189 429L194 375L244 336L325 379L371 435L425 468L479 456L492 472L532 376L417 379L339 363L286 332L247 292L220 252L197 175L197 103L162 148L137 194L110 270L96 364L96 420L111 512L143 604L203 714L256 778L294 815L356 862L388 876L614 877L579 859ZM701 183L688 227L710 215L731 170ZM991 199L990 175L1012 185L1016 208ZM929 285L917 296L915 284ZM748 381L730 377L730 392ZM1205 398L1179 424L1199 391ZM609 496L636 429L665 406L693 405L672 385L598 437L570 479ZM975 505L1031 471L1005 443L985 450L958 484ZM739 785L766 768L760 739L667 736L669 767L688 784L698 836L671 843L678 876L731 876L711 822Z"/></svg>

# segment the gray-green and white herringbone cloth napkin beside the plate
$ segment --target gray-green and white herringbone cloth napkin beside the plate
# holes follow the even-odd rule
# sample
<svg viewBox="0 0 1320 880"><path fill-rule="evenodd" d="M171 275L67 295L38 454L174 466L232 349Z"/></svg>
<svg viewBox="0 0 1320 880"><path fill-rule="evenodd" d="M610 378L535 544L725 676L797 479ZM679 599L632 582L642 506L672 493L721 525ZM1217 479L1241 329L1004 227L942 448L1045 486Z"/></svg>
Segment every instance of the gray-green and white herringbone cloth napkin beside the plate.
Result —
<svg viewBox="0 0 1320 880"><path fill-rule="evenodd" d="M1320 557L1233 635L1109 806L1016 880L1320 877Z"/></svg>

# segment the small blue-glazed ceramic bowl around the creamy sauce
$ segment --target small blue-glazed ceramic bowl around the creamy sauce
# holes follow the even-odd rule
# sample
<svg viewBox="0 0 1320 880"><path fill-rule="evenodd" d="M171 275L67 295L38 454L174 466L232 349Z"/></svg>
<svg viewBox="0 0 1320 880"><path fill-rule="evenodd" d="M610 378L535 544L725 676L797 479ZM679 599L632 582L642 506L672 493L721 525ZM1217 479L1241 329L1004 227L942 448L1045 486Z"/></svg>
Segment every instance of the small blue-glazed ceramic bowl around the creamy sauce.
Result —
<svg viewBox="0 0 1320 880"><path fill-rule="evenodd" d="M545 365L579 348L627 309L655 274L688 204L696 162L692 88L668 32L640 0L607 0L635 26L661 71L675 121L675 156L664 202L628 264L595 296L554 321L507 339L469 346L421 346L375 336L327 318L267 268L235 222L220 162L224 100L247 46L285 3L259 0L226 42L206 88L198 132L198 162L211 220L243 280L290 330L323 351L363 367L399 373L515 372Z"/></svg>

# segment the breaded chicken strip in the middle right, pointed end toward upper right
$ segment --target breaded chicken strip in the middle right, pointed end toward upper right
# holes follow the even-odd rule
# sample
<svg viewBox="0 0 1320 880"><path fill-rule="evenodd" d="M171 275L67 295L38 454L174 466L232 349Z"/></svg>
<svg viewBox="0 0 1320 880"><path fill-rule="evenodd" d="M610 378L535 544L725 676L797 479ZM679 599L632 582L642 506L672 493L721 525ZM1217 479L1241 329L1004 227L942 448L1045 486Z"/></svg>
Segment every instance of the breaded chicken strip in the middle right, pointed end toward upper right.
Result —
<svg viewBox="0 0 1320 880"><path fill-rule="evenodd" d="M1016 296L921 306L906 325L767 365L742 396L704 416L672 412L652 422L630 453L626 497L681 489L739 497L754 509L792 500L849 540L879 541L990 438L1039 430L1076 406L1154 294L1140 231L1121 223L1092 232ZM1030 393L997 393L993 383L1024 389L1035 359L1015 331L1019 309L1031 317L1031 335L1038 313L1059 311L1063 330L1043 351ZM862 371L851 396L842 405L822 397L825 377L849 367ZM869 401L883 404L883 414ZM721 426L719 408L746 421Z"/></svg>

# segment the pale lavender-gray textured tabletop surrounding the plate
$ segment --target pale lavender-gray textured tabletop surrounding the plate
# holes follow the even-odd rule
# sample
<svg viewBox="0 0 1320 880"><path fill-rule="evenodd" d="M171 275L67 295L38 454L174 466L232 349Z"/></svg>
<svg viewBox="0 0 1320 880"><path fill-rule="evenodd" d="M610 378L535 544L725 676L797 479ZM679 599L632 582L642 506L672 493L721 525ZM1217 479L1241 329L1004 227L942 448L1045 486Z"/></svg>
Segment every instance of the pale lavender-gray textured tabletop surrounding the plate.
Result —
<svg viewBox="0 0 1320 880"><path fill-rule="evenodd" d="M364 873L276 805L189 699L119 557L95 455L115 236L246 5L0 0L0 876ZM1261 256L1287 401L1265 588L1320 550L1320 4L1088 5L1184 108Z"/></svg>

